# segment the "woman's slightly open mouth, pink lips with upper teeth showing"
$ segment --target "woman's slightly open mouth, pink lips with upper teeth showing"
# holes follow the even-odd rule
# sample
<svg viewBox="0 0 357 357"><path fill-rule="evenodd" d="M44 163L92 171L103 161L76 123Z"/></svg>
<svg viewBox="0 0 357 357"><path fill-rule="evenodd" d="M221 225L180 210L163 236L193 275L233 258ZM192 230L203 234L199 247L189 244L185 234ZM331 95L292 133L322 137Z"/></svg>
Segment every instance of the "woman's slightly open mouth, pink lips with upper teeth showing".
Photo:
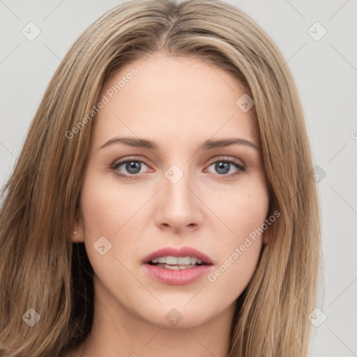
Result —
<svg viewBox="0 0 357 357"><path fill-rule="evenodd" d="M142 260L151 278L165 284L189 284L211 271L213 261L190 247L162 248Z"/></svg>

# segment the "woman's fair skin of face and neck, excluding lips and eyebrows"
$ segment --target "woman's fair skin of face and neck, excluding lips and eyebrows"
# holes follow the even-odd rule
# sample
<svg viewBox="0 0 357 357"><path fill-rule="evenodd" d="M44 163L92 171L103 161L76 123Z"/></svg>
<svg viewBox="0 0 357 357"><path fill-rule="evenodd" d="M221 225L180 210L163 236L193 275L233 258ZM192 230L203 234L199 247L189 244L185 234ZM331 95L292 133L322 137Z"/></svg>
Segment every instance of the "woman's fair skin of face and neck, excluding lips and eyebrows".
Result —
<svg viewBox="0 0 357 357"><path fill-rule="evenodd" d="M139 59L112 74L100 98L133 67L137 75L94 119L73 242L84 241L93 266L95 314L91 333L68 356L228 356L234 303L252 278L266 234L215 282L204 275L186 285L164 284L141 260L163 247L189 245L211 257L213 272L261 227L269 202L260 151L244 144L198 150L209 138L241 138L259 148L255 119L236 105L244 93L236 79L196 57ZM160 149L100 149L116 136L149 139ZM145 161L137 163L138 174L125 164L110 169L132 155ZM239 174L222 177L226 171L215 162L227 158L245 171L228 164L228 174ZM183 173L177 183L165 176L171 165ZM105 255L93 248L100 236L112 244ZM176 326L165 319L173 308L182 316Z"/></svg>

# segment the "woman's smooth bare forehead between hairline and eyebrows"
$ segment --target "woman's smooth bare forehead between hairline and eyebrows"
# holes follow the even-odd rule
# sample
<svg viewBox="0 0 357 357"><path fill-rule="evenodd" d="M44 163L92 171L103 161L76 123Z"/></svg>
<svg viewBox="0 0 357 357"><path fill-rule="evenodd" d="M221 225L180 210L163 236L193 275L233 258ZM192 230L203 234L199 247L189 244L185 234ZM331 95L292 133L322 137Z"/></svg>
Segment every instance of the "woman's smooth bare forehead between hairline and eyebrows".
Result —
<svg viewBox="0 0 357 357"><path fill-rule="evenodd" d="M236 104L244 93L230 73L202 59L152 54L107 78L100 91L107 103L96 116L93 143L115 135L186 146L209 137L257 142L255 119Z"/></svg>

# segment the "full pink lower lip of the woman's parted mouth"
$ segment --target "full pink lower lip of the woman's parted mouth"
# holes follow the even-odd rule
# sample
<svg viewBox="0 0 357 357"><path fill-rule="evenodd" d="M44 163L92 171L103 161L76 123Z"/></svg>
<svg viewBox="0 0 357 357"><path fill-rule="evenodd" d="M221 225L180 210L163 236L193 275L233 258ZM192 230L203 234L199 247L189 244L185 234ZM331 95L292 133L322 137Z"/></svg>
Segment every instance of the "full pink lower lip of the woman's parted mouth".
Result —
<svg viewBox="0 0 357 357"><path fill-rule="evenodd" d="M161 266L144 264L146 271L151 275L151 278L163 282L164 284L185 285L202 278L211 271L213 265L200 265L186 269L167 269Z"/></svg>

